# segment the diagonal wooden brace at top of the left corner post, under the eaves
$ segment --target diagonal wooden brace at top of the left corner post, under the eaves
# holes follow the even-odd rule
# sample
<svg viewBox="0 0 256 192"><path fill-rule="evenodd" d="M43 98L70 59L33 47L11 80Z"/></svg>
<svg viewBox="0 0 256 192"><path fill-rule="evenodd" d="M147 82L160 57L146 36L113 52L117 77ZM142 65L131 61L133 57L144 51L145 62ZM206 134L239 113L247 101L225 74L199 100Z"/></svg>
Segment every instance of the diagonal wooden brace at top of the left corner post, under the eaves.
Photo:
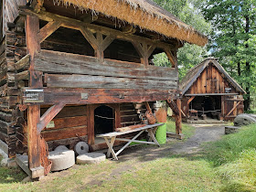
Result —
<svg viewBox="0 0 256 192"><path fill-rule="evenodd" d="M42 43L47 37L53 34L61 26L60 21L51 21L45 27L40 29L38 40Z"/></svg>

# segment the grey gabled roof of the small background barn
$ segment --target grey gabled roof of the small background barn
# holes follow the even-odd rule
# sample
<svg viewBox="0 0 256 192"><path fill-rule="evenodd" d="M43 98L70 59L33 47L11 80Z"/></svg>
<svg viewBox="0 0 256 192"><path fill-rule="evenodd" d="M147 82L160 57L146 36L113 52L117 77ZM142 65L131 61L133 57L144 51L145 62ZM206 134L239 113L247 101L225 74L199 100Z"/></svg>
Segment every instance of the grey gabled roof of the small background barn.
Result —
<svg viewBox="0 0 256 192"><path fill-rule="evenodd" d="M228 72L219 64L217 59L205 59L203 62L195 66L194 68L188 70L187 75L181 80L179 84L179 90L182 92L182 95L184 95L189 88L193 85L193 83L197 80L197 78L201 75L201 73L208 67L208 65L212 64L217 69L219 69L219 72L224 75L224 78L229 81L229 83L239 92L246 93L241 87L240 84L237 83L236 80L231 78L228 74Z"/></svg>

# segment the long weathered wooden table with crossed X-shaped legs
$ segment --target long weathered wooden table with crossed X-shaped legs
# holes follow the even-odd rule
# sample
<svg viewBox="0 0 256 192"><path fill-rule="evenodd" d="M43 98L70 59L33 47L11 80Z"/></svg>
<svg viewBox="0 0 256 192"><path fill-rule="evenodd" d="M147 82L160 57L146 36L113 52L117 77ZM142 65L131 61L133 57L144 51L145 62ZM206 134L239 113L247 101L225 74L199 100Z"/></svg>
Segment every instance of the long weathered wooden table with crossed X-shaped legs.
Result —
<svg viewBox="0 0 256 192"><path fill-rule="evenodd" d="M126 132L103 133L103 134L98 134L96 136L97 137L102 137L102 138L105 139L105 142L109 147L107 157L110 157L110 155L112 154L112 157L115 160L118 160L117 155L119 155L121 152L123 152L123 150L129 144L131 144L132 142L139 143L139 144L157 144L158 146L160 146L160 144L158 144L158 142L155 139L155 131L157 130L158 126L163 125L163 124L165 124L165 123L148 124L148 125L145 125L144 127L140 127L140 128L137 128L137 129L126 131ZM135 133L135 132L139 132L139 133L137 133L135 136L133 136L133 139L126 139L126 138L118 138L117 137L117 136L120 136L120 135L123 135L123 134ZM138 138L138 136L140 136L144 132L148 132L149 137L150 137L149 142L136 140L136 138ZM116 141L116 140L117 141L128 142L128 143L125 144L118 152L114 152L112 146L114 144L114 141ZM151 141L153 141L153 142L151 142Z"/></svg>

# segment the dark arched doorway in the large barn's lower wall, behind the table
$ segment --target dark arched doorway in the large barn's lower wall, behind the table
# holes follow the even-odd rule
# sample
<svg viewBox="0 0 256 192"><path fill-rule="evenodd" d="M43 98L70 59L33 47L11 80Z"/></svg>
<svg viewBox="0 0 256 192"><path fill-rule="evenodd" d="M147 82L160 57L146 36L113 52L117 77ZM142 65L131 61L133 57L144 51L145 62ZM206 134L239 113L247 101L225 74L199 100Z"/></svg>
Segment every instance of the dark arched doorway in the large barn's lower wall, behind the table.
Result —
<svg viewBox="0 0 256 192"><path fill-rule="evenodd" d="M114 114L113 109L101 105L94 110L94 134L113 132Z"/></svg>

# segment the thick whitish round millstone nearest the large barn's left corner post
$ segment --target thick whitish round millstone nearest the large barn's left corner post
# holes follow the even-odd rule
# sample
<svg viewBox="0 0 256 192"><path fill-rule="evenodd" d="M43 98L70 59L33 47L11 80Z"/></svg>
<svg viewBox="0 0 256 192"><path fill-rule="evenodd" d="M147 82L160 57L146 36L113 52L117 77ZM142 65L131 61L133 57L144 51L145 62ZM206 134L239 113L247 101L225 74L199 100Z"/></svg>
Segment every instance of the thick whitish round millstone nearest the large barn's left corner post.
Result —
<svg viewBox="0 0 256 192"><path fill-rule="evenodd" d="M52 161L51 171L60 171L75 165L75 152L72 150L49 152L48 159Z"/></svg>

